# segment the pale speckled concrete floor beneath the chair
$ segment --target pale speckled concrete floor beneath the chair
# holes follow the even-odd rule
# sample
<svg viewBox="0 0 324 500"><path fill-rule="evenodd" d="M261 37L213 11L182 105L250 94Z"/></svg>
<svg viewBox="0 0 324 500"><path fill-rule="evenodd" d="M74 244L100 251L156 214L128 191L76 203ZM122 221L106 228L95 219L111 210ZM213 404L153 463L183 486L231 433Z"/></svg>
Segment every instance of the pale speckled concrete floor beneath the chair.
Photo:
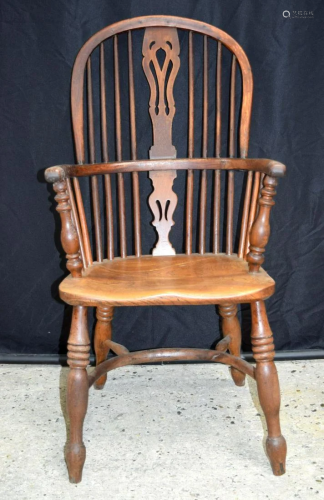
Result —
<svg viewBox="0 0 324 500"><path fill-rule="evenodd" d="M324 499L324 360L277 363L287 474L264 454L256 386L223 365L119 368L91 390L82 483L68 482L67 369L0 366L0 499Z"/></svg>

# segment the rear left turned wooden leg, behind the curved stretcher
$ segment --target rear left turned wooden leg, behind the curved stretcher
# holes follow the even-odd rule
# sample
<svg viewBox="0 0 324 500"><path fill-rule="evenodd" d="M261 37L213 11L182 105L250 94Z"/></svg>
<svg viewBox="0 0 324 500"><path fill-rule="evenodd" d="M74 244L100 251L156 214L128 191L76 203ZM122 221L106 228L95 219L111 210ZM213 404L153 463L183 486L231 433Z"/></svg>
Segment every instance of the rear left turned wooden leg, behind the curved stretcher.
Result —
<svg viewBox="0 0 324 500"><path fill-rule="evenodd" d="M97 324L94 335L94 349L96 353L96 365L106 360L109 346L106 340L111 340L111 322L114 315L113 307L97 307ZM107 380L107 374L102 375L95 383L95 389L103 389Z"/></svg>

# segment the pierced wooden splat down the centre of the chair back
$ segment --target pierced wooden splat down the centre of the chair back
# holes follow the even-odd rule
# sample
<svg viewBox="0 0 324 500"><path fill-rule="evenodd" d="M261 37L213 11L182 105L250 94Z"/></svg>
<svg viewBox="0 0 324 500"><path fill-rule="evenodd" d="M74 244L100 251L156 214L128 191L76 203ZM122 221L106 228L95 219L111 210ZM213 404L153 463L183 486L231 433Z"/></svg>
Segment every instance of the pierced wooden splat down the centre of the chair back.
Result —
<svg viewBox="0 0 324 500"><path fill-rule="evenodd" d="M173 86L177 76L179 39L175 28L147 28L143 41L143 69L150 85L149 111L153 125L153 146L150 159L176 158L172 144L172 122L175 114ZM149 172L153 193L149 205L154 215L152 222L158 233L153 255L174 255L169 233L174 225L172 219L178 197L172 190L175 170Z"/></svg>

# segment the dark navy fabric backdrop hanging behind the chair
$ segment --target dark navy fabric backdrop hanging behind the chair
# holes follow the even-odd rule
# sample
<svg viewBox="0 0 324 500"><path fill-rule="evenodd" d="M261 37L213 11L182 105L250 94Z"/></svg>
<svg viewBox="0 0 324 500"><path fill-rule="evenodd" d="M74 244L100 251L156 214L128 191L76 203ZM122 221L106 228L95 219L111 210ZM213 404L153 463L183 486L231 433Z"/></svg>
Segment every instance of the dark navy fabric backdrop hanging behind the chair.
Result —
<svg viewBox="0 0 324 500"><path fill-rule="evenodd" d="M277 282L267 302L276 345L324 348L323 7L320 0L0 1L0 352L65 351L71 311L58 298L62 249L42 170L74 162L69 86L81 45L108 24L148 14L208 22L246 51L255 80L249 156L288 167L265 263ZM313 18L294 18L294 9ZM121 308L115 318L115 338L131 349L208 347L219 336L212 306Z"/></svg>

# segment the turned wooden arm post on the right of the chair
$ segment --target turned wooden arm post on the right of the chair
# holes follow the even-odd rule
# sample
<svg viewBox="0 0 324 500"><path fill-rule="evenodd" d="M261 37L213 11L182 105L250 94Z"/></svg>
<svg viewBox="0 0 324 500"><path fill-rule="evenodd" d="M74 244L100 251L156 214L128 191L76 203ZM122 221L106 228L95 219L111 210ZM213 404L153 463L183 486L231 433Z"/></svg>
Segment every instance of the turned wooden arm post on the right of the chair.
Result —
<svg viewBox="0 0 324 500"><path fill-rule="evenodd" d="M270 211L275 204L273 197L276 194L278 181L275 177L266 175L261 189L259 199L259 213L254 221L250 233L250 252L246 260L249 263L249 271L258 272L264 262L265 247L270 236Z"/></svg>

